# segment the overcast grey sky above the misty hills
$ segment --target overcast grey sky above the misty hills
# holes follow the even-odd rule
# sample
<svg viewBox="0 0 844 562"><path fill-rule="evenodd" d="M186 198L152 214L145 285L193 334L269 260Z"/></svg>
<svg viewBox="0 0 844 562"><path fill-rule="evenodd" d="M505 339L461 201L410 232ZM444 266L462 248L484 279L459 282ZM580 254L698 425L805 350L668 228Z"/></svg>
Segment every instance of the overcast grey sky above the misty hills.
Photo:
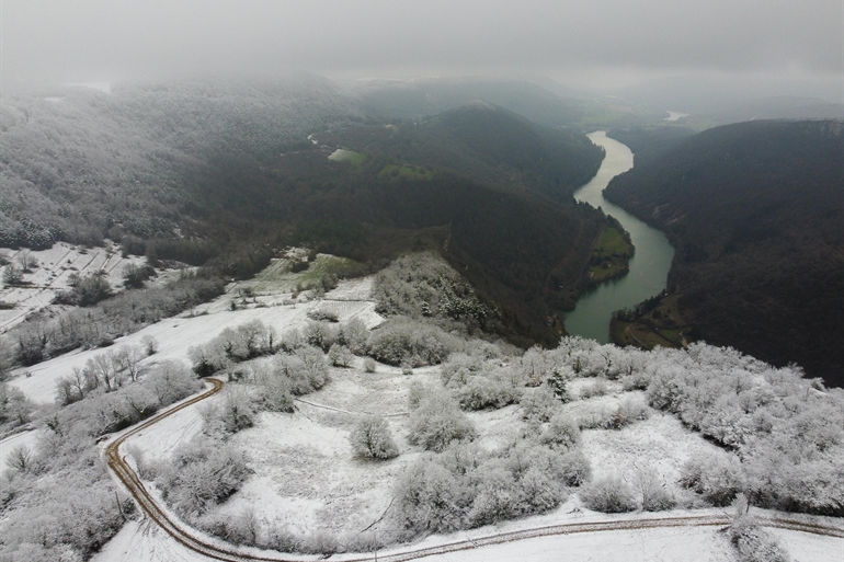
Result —
<svg viewBox="0 0 844 562"><path fill-rule="evenodd" d="M309 70L600 88L707 73L844 96L842 0L0 1L7 85Z"/></svg>

